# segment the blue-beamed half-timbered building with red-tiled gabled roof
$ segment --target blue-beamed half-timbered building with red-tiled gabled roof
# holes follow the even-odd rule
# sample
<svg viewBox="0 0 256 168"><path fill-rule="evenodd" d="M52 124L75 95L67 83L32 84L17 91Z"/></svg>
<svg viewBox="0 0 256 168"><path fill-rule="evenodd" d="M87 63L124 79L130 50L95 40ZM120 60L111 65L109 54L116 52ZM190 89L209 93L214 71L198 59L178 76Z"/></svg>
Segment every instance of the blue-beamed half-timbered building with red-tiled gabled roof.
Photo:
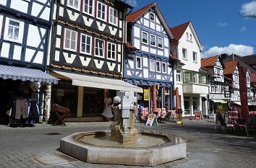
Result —
<svg viewBox="0 0 256 168"><path fill-rule="evenodd" d="M129 44L124 56L124 80L144 89L144 94L137 95L138 104L143 107L153 110L171 107L174 68L169 57L172 38L155 2L127 16ZM132 52L129 52L131 46Z"/></svg>

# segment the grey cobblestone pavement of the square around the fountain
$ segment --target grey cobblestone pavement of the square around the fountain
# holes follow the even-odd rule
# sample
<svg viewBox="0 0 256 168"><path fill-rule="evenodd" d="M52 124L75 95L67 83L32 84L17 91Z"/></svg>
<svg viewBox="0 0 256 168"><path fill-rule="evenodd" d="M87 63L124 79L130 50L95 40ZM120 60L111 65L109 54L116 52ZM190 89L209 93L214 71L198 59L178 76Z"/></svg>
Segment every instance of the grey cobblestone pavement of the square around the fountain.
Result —
<svg viewBox="0 0 256 168"><path fill-rule="evenodd" d="M59 140L80 131L106 130L110 123L67 123L67 127L37 124L33 128L7 128L0 125L0 168L43 167L31 158L61 154ZM166 122L158 126L139 124L141 130L174 133L187 141L187 158L156 167L256 167L255 137L217 133L208 121L184 120L183 125ZM55 135L46 135L53 133ZM56 134L59 133L59 134ZM81 161L46 167L133 167L90 164Z"/></svg>

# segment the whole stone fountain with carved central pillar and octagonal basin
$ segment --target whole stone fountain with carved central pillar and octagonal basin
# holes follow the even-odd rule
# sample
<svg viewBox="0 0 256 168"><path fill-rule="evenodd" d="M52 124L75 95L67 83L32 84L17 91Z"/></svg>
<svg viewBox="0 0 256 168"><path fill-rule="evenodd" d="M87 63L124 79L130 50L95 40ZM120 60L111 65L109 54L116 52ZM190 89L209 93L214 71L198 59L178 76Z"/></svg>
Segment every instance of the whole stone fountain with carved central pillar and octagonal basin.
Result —
<svg viewBox="0 0 256 168"><path fill-rule="evenodd" d="M108 131L73 133L62 138L60 150L85 162L155 166L186 157L186 143L170 133L135 128L133 92L114 97L114 122Z"/></svg>

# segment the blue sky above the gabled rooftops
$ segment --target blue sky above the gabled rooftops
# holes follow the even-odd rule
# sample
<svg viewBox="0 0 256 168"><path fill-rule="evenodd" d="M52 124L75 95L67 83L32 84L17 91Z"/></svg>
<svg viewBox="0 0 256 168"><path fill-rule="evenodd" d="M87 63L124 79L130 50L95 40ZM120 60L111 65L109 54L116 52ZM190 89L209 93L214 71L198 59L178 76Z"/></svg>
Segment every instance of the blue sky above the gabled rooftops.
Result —
<svg viewBox="0 0 256 168"><path fill-rule="evenodd" d="M135 9L153 0L127 0ZM256 53L256 18L241 17L256 14L256 0L155 0L168 25L174 27L192 21L204 51L204 56L236 53L247 56ZM254 46L255 45L255 46Z"/></svg>

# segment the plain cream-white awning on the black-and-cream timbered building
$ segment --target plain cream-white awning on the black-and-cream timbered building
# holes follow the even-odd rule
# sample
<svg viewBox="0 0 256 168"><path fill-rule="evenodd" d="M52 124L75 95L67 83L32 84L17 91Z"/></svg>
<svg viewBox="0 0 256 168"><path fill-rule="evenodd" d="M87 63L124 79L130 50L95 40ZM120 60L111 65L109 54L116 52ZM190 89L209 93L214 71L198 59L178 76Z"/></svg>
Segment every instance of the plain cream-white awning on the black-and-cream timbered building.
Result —
<svg viewBox="0 0 256 168"><path fill-rule="evenodd" d="M72 79L72 84L81 87L95 87L101 89L122 90L125 92L143 92L143 89L135 85L128 84L118 79L108 79L102 77L88 76L82 74L72 74L62 71L54 71L56 74Z"/></svg>

